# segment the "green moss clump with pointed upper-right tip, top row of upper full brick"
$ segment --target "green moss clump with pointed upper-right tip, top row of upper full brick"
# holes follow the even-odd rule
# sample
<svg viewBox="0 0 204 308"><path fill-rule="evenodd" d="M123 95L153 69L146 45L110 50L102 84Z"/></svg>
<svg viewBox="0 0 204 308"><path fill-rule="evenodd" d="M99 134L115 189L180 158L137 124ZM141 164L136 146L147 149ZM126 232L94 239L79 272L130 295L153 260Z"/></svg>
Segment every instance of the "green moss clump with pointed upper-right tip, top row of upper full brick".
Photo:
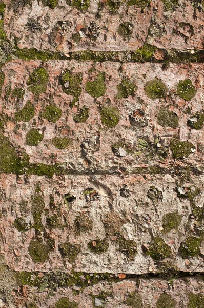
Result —
<svg viewBox="0 0 204 308"><path fill-rule="evenodd" d="M89 93L93 98L99 98L106 93L105 72L99 72L94 81L86 82L86 92Z"/></svg>

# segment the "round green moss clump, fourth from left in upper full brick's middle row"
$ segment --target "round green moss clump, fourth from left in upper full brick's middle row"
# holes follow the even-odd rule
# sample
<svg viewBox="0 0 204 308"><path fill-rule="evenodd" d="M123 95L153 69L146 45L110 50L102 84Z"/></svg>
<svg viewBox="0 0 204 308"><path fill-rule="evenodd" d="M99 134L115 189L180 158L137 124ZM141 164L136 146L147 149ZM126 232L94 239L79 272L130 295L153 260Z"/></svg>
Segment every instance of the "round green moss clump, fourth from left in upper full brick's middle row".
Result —
<svg viewBox="0 0 204 308"><path fill-rule="evenodd" d="M104 106L100 110L100 119L104 126L115 127L120 119L119 110L114 107Z"/></svg>

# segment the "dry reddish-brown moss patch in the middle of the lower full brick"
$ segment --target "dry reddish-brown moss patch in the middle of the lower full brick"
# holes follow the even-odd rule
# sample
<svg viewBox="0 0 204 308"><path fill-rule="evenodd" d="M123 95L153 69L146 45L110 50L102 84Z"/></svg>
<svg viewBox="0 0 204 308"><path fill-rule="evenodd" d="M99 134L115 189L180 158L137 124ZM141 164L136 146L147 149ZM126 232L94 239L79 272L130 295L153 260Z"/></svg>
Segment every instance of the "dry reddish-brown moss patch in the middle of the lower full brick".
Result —
<svg viewBox="0 0 204 308"><path fill-rule="evenodd" d="M117 213L105 214L102 222L107 235L119 234L120 228L124 224L124 220Z"/></svg>

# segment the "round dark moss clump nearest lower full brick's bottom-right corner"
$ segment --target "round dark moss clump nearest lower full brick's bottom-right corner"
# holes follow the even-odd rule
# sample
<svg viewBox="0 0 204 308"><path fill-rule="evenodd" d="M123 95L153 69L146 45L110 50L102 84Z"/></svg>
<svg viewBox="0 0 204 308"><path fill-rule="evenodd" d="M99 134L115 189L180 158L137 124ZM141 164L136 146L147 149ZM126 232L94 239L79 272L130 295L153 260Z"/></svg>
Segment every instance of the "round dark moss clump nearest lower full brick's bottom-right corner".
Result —
<svg viewBox="0 0 204 308"><path fill-rule="evenodd" d="M190 235L181 243L179 253L183 258L198 256L200 254L200 238Z"/></svg>

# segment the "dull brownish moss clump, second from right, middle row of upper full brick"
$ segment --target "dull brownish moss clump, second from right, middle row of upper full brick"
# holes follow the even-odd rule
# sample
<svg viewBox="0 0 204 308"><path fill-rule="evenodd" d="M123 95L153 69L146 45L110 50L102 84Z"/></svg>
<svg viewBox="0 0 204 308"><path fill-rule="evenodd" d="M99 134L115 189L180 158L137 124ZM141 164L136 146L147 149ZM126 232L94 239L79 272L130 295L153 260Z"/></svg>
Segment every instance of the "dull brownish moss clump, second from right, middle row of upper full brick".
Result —
<svg viewBox="0 0 204 308"><path fill-rule="evenodd" d="M175 129L178 127L178 120L179 118L176 113L169 111L166 107L161 107L157 115L158 124L163 127L171 127Z"/></svg>

